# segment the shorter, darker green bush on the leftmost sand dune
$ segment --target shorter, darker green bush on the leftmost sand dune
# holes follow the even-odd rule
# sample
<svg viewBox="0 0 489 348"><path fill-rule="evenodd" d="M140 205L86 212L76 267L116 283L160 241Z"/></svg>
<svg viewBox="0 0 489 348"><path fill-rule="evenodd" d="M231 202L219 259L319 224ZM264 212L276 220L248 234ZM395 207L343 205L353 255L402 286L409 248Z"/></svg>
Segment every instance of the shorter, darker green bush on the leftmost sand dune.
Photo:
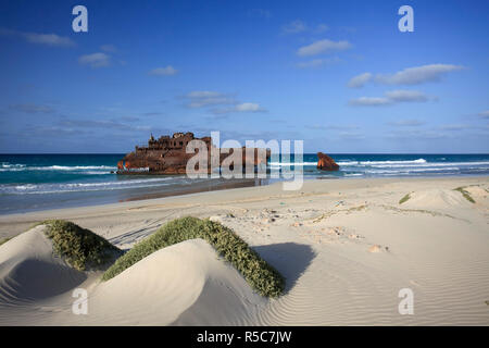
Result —
<svg viewBox="0 0 489 348"><path fill-rule="evenodd" d="M103 237L64 220L48 220L45 234L52 240L53 250L78 271L108 263L122 251Z"/></svg>

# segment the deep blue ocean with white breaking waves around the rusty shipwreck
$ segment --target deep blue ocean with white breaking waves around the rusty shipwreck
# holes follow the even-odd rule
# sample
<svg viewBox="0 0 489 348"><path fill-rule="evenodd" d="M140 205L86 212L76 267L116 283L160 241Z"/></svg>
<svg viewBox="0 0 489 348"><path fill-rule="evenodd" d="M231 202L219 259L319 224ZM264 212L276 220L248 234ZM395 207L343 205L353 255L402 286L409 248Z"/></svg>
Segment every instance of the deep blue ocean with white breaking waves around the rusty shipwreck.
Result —
<svg viewBox="0 0 489 348"><path fill-rule="evenodd" d="M317 156L304 153L300 163L304 178L489 175L489 154L329 156L340 171L318 171ZM225 179L190 179L185 175L112 174L123 157L123 153L0 154L0 214L163 197L192 192L196 187L211 190L225 185ZM288 163L293 163L293 156L290 160L271 161L268 167L281 169ZM252 185L269 182L273 181L255 181Z"/></svg>

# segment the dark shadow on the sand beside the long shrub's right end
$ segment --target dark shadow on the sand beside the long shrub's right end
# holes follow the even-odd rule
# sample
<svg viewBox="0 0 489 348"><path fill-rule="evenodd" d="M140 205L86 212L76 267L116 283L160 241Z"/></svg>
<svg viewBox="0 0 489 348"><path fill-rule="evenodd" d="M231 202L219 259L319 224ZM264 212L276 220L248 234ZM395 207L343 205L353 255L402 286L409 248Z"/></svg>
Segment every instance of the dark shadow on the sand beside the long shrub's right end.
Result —
<svg viewBox="0 0 489 348"><path fill-rule="evenodd" d="M255 246L252 249L286 278L286 294L296 285L316 256L310 246L297 243Z"/></svg>

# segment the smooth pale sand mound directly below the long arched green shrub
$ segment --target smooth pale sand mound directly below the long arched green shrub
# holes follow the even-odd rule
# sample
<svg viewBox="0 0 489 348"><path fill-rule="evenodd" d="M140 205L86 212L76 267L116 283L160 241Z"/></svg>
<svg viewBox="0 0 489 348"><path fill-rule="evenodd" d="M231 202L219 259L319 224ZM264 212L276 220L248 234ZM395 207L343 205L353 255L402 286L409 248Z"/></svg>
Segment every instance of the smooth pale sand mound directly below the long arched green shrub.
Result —
<svg viewBox="0 0 489 348"><path fill-rule="evenodd" d="M90 295L90 324L236 323L263 302L202 239L159 250Z"/></svg>

